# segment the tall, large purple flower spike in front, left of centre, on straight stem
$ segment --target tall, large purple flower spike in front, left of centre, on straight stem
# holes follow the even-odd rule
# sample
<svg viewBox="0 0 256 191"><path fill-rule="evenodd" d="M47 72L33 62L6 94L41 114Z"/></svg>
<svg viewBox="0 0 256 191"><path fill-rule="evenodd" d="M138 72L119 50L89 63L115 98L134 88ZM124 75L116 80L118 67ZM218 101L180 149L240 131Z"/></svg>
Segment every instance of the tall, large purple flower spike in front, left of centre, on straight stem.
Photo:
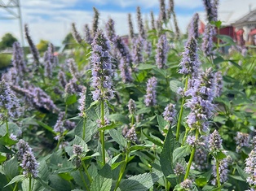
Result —
<svg viewBox="0 0 256 191"><path fill-rule="evenodd" d="M91 85L95 89L92 92L93 99L111 99L113 98L113 69L109 54L110 46L108 39L101 30L95 35L92 43L91 63L92 78Z"/></svg>

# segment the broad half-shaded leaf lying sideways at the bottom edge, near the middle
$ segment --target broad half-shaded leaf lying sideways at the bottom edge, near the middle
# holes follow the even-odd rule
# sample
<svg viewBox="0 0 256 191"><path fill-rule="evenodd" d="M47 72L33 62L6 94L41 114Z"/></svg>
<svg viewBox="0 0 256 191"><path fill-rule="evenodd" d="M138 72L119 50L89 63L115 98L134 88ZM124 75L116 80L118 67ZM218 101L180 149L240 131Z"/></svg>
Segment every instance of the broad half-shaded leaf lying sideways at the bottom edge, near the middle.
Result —
<svg viewBox="0 0 256 191"><path fill-rule="evenodd" d="M157 180L159 177L155 173L144 173L122 180L119 188L121 191L147 191Z"/></svg>

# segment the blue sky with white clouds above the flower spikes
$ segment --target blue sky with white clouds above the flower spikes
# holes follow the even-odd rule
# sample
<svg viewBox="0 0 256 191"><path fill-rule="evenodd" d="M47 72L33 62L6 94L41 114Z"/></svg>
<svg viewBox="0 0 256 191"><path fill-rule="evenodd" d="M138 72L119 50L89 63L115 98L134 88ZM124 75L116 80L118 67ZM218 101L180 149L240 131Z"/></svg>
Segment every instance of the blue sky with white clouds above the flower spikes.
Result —
<svg viewBox="0 0 256 191"><path fill-rule="evenodd" d="M111 17L116 23L116 32L119 35L124 35L128 31L128 13L132 14L136 31L137 6L141 7L144 19L149 20L150 11L154 11L156 18L159 13L158 0L20 0L20 3L23 23L29 24L33 41L38 43L40 39L44 39L56 46L60 46L61 41L70 31L71 23L77 24L80 33L84 24L91 26L92 7L99 10L99 27L104 28L108 18ZM183 33L195 12L200 14L201 20L205 20L202 0L174 0L174 4L179 28ZM220 0L219 19L232 23L248 13L249 4L252 9L256 8L255 0ZM5 11L0 10L0 17L3 15ZM0 22L0 37L4 33L12 33L20 39L18 20L0 20Z"/></svg>

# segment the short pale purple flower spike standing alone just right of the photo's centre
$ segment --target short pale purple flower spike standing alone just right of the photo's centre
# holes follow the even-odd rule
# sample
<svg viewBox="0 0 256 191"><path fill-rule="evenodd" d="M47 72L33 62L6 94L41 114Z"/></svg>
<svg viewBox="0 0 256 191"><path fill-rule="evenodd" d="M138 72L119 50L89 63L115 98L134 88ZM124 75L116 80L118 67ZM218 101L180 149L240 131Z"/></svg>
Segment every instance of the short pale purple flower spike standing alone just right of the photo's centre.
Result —
<svg viewBox="0 0 256 191"><path fill-rule="evenodd" d="M145 104L146 106L155 106L157 104L157 78L152 77L148 79L147 83L147 94L145 96Z"/></svg>

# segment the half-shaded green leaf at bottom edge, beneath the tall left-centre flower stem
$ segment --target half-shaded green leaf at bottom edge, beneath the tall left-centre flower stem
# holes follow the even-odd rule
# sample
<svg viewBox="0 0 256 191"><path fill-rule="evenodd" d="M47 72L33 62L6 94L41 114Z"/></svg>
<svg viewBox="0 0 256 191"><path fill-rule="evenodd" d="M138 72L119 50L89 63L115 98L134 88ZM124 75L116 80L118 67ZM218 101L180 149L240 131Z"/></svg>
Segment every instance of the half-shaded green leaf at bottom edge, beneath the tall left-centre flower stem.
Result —
<svg viewBox="0 0 256 191"><path fill-rule="evenodd" d="M110 191L112 181L113 178L111 167L108 164L106 164L92 181L90 191Z"/></svg>

